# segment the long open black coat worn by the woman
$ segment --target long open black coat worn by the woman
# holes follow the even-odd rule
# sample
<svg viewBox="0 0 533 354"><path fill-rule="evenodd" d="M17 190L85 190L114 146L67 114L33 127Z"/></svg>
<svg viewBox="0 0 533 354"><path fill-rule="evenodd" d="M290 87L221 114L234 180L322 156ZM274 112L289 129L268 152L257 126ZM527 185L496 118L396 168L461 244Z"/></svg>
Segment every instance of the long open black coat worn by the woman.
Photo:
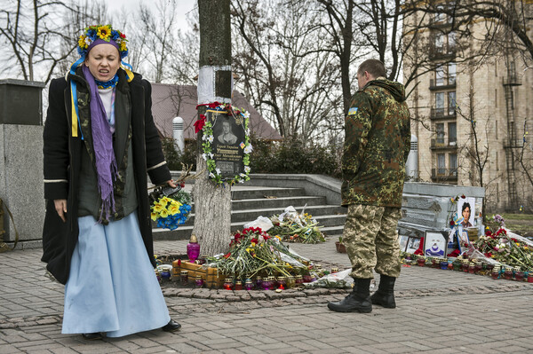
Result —
<svg viewBox="0 0 533 354"><path fill-rule="evenodd" d="M136 74L130 83L123 69L119 69L119 83L116 90L128 94L131 105L131 148L133 171L138 199L139 229L151 263L155 266L154 246L150 208L147 197L147 174L155 184L171 179L171 173L164 161L161 141L152 117L152 89L150 83ZM68 75L76 80L78 90L88 92L89 88L81 70ZM83 93L78 96L80 122L90 119L88 102ZM44 124L44 218L42 261L46 269L60 283L66 284L70 271L70 260L78 240L77 193L81 152L84 147L79 130L73 137L70 84L65 78L50 83L49 107ZM63 223L54 208L54 200L67 199L67 223ZM128 260L123 260L127 262ZM134 260L130 260L134 261Z"/></svg>

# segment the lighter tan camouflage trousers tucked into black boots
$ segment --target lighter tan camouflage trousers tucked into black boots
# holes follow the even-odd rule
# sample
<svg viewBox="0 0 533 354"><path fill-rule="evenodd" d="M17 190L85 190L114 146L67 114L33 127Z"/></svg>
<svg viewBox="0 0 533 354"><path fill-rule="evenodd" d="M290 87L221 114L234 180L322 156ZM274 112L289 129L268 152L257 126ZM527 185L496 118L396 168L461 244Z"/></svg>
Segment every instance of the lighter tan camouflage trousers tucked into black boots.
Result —
<svg viewBox="0 0 533 354"><path fill-rule="evenodd" d="M396 226L400 208L352 204L348 207L343 243L352 262L353 278L372 279L379 274L400 276L400 246Z"/></svg>

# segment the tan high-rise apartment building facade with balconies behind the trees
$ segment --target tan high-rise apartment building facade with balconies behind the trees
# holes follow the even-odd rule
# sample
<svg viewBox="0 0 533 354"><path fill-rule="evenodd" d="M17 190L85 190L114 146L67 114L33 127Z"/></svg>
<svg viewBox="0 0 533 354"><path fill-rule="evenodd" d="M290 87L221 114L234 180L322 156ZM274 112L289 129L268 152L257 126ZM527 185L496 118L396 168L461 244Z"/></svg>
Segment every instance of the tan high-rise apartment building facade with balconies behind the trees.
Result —
<svg viewBox="0 0 533 354"><path fill-rule="evenodd" d="M469 23L470 35L459 36L444 13L404 20L404 30L417 32L404 75L417 67L408 104L418 138L418 180L483 186L486 212L531 211L533 63L505 41L488 50L486 22ZM429 26L414 27L420 23ZM426 64L417 66L417 60Z"/></svg>

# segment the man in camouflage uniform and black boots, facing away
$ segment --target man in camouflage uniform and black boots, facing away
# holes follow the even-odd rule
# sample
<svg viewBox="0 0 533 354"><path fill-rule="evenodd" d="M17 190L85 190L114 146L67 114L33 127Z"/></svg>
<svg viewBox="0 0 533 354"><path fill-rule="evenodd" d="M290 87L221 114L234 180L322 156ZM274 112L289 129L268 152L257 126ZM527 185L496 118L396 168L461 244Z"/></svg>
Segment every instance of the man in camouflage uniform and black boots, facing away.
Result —
<svg viewBox="0 0 533 354"><path fill-rule="evenodd" d="M332 311L370 312L372 303L396 307L394 281L401 268L396 226L410 151L410 114L403 85L385 76L381 61L361 64L359 90L346 116L341 196L348 213L343 242L352 262L354 291L328 303ZM374 269L380 282L370 297Z"/></svg>

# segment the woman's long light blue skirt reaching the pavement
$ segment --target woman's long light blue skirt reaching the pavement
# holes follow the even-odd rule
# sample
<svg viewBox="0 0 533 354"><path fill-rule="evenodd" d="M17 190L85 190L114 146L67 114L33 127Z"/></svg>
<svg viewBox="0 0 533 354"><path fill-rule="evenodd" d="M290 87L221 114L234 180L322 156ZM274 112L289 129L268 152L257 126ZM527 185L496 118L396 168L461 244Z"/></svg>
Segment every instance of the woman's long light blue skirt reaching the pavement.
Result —
<svg viewBox="0 0 533 354"><path fill-rule="evenodd" d="M169 311L139 232L137 213L107 225L78 218L79 238L65 287L63 334L108 337L166 325Z"/></svg>

